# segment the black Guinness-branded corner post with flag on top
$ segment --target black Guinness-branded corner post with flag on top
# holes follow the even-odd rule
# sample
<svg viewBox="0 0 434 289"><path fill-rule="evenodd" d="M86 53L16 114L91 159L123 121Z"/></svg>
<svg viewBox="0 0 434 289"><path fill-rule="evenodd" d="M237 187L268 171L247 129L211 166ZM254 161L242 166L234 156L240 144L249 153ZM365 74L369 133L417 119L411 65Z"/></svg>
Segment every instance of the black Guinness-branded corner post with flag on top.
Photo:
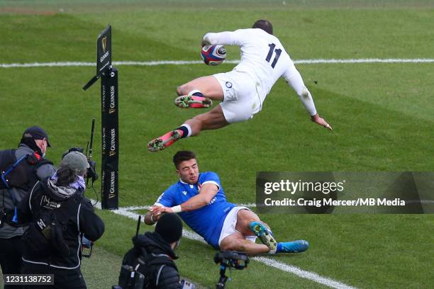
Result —
<svg viewBox="0 0 434 289"><path fill-rule="evenodd" d="M118 69L111 66L111 26L96 40L96 75L83 87L88 89L101 77L101 207L118 208Z"/></svg>

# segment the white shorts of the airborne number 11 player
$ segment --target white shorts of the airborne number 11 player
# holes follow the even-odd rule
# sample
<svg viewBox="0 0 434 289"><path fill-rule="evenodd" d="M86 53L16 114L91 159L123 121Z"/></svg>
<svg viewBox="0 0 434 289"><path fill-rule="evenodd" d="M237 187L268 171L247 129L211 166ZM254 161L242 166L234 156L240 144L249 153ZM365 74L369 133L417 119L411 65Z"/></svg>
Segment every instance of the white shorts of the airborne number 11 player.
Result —
<svg viewBox="0 0 434 289"><path fill-rule="evenodd" d="M220 103L223 115L228 123L239 123L253 118L260 112L262 103L257 84L245 72L233 70L213 74L223 89L223 101ZM263 98L262 98L263 99Z"/></svg>

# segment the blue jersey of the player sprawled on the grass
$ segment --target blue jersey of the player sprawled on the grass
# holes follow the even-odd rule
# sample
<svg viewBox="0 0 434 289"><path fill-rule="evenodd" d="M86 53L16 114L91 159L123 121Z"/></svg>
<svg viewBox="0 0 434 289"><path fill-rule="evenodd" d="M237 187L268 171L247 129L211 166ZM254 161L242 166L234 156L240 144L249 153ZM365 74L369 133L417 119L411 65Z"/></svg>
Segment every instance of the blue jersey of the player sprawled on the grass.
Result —
<svg viewBox="0 0 434 289"><path fill-rule="evenodd" d="M194 185L179 180L162 193L155 205L164 205L165 207L181 205L189 200L189 198L199 194L201 186L205 183L214 183L218 186L216 196L211 199L208 205L190 212L180 212L179 217L181 217L194 232L204 237L208 244L218 249L218 238L223 228L223 222L228 212L235 207L235 205L226 200L225 192L223 191L220 179L216 173L213 171L200 173L199 181Z"/></svg>

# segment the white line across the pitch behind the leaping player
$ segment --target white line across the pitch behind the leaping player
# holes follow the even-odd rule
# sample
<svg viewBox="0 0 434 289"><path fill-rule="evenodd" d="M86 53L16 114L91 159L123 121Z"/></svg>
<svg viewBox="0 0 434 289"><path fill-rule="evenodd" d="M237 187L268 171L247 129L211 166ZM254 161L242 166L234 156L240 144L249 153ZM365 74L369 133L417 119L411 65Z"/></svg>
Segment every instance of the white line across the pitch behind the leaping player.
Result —
<svg viewBox="0 0 434 289"><path fill-rule="evenodd" d="M333 63L433 63L434 59L415 58L415 59L380 59L380 58L363 58L348 60L294 60L295 64L333 64ZM157 65L185 65L185 64L203 64L200 60L155 60L155 61L115 61L113 65L129 66L157 66ZM238 64L240 60L226 60L226 64ZM33 62L33 63L0 63L0 68L15 67L94 67L94 62Z"/></svg>

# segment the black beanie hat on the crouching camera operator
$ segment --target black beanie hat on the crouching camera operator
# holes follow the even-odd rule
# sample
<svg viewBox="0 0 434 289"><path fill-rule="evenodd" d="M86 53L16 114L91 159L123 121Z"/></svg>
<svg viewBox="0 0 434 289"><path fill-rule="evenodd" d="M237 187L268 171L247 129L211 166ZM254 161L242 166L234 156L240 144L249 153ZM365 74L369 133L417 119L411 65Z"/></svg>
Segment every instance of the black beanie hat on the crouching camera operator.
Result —
<svg viewBox="0 0 434 289"><path fill-rule="evenodd" d="M182 237L181 218L172 212L163 214L155 225L155 232L169 244L179 241Z"/></svg>

